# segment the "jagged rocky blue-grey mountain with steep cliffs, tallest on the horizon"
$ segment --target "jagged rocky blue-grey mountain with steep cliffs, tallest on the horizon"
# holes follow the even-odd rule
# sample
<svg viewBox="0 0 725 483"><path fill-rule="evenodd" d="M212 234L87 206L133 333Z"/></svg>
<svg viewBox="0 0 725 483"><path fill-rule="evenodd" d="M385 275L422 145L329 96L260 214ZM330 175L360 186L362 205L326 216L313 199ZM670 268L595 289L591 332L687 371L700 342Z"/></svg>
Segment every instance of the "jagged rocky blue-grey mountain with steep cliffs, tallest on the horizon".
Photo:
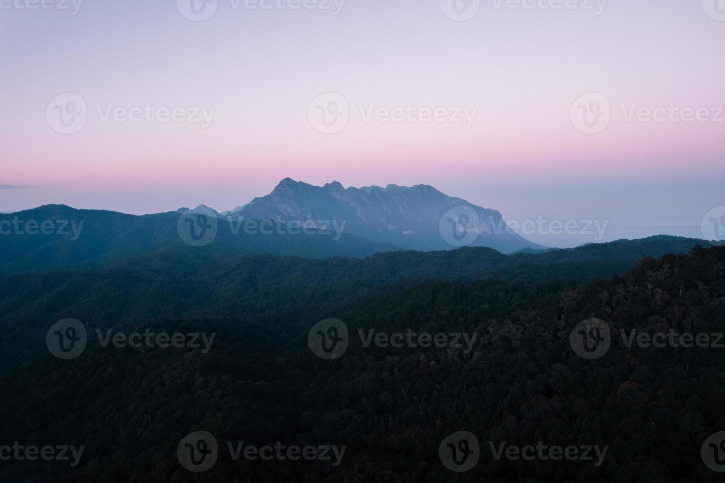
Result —
<svg viewBox="0 0 725 483"><path fill-rule="evenodd" d="M457 211L451 214L451 209ZM470 243L458 244L453 240L452 244L442 235L442 230L452 232L451 220L459 222L462 213L468 217L470 226L461 227L461 233L465 229L478 232L478 236L474 235L475 239ZM497 210L447 196L426 184L410 188L389 184L385 188L364 186L346 189L337 181L325 186L312 186L284 178L270 194L254 198L248 205L228 214L242 220L344 221L345 231L349 234L404 249L441 250L465 244L511 253L524 248L546 248L506 229ZM447 217L444 218L444 215ZM478 223L474 218L478 218Z"/></svg>

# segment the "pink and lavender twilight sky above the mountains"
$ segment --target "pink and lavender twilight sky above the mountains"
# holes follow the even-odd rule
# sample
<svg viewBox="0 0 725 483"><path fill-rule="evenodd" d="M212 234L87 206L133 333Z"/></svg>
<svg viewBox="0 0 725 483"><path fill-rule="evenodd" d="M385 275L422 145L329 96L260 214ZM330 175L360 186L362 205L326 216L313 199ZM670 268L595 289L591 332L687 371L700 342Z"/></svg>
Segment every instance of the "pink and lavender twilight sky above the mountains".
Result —
<svg viewBox="0 0 725 483"><path fill-rule="evenodd" d="M221 211L289 176L699 226L723 45L725 0L0 0L0 211Z"/></svg>

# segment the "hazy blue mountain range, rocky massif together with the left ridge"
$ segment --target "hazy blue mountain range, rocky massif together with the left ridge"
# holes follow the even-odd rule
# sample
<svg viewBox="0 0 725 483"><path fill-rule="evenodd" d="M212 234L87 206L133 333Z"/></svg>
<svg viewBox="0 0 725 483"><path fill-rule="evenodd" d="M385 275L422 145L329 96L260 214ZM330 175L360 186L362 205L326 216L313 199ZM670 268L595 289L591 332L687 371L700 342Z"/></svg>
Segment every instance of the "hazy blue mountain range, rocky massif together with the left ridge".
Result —
<svg viewBox="0 0 725 483"><path fill-rule="evenodd" d="M447 218L452 209L454 214ZM204 205L194 210L181 208L142 216L45 205L2 214L0 275L93 268L108 261L169 249L201 249L222 256L266 253L307 258L360 258L403 249L455 249L459 247L455 240L452 244L452 239L445 236L446 229L450 234L454 228L442 220L457 223L460 212L468 217L468 225L455 229L462 234L473 232L466 243L469 247L489 247L502 254L537 254L546 249L505 228L494 229L505 226L497 210L449 197L432 186L408 188L391 184L385 188L345 189L336 181L312 186L285 178L265 197L223 213ZM215 231L208 243L199 248L189 247L194 242L186 239L188 233L183 233L188 231L186 223L212 219ZM261 220L275 223L268 223L270 230L262 233ZM252 223L254 230L249 231L247 223ZM304 233L315 236L289 236L295 225L297 234L304 226ZM665 247L657 250L661 254L687 252L695 244L710 245L708 241L676 237L660 239L658 243Z"/></svg>

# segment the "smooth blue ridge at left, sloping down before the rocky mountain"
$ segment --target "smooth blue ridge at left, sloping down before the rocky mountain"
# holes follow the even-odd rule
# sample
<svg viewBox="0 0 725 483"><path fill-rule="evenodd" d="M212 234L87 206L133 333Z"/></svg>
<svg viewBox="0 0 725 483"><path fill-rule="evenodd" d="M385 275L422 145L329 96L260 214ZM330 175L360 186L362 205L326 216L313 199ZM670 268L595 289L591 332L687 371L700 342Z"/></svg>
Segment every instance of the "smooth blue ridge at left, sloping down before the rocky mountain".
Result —
<svg viewBox="0 0 725 483"><path fill-rule="evenodd" d="M214 220L213 236L203 247L185 243L184 214L205 215ZM143 255L164 249L186 252L206 250L220 255L269 253L300 257L367 257L399 249L334 230L308 230L290 234L286 230L251 232L226 218L217 218L211 208L154 215L126 215L104 210L76 210L65 205L45 205L0 215L0 274L56 269L79 269ZM186 240L189 241L189 240Z"/></svg>

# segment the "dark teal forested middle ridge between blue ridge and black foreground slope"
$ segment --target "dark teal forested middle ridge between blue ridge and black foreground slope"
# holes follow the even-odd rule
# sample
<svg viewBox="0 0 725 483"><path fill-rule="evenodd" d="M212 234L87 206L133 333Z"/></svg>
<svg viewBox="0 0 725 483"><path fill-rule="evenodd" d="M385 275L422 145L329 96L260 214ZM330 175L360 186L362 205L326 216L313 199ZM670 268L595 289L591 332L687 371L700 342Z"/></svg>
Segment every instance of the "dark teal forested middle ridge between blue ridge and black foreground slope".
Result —
<svg viewBox="0 0 725 483"><path fill-rule="evenodd" d="M689 252L671 236L615 241L540 255L493 249L388 252L364 259L229 257L210 247L167 249L103 268L0 277L0 373L44 352L52 323L77 318L109 328L159 318L238 316L255 323L307 320L329 307L426 280L581 281L613 276L635 261Z"/></svg>

